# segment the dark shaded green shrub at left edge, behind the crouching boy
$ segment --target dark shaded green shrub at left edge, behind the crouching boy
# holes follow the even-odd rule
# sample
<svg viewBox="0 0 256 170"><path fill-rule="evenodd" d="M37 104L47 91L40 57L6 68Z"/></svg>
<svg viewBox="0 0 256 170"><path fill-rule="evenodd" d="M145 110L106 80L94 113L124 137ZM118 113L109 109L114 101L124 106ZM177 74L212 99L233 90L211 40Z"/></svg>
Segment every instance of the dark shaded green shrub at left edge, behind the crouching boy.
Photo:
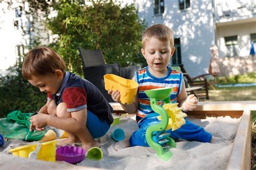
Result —
<svg viewBox="0 0 256 170"><path fill-rule="evenodd" d="M0 77L0 118L14 110L39 110L45 104L46 94L22 77L21 64L10 67L8 72L8 75Z"/></svg>

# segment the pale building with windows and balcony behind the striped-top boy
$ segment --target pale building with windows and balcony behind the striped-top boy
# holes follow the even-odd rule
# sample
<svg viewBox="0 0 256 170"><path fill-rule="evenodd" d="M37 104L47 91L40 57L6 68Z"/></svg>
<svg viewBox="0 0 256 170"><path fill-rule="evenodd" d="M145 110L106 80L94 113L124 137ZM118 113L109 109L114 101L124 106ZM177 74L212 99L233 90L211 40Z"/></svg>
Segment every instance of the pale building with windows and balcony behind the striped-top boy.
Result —
<svg viewBox="0 0 256 170"><path fill-rule="evenodd" d="M134 0L133 3L148 26L165 24L173 30L177 51L172 65L184 64L192 76L207 73L210 47L215 43L219 48L221 74L256 71L255 58L249 56L251 41L256 47L255 0Z"/></svg>

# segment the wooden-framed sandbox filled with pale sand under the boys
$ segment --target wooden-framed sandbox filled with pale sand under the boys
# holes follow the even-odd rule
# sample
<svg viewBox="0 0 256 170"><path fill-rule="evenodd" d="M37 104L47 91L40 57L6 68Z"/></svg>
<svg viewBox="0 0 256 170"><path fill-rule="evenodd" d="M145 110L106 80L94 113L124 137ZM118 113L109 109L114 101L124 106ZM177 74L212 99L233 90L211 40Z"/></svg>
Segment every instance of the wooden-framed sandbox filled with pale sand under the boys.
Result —
<svg viewBox="0 0 256 170"><path fill-rule="evenodd" d="M111 103L111 105L114 108L114 112L124 112L119 104ZM159 160L153 149L149 147L136 146L121 148L118 151L114 151L113 147L116 145L116 141L110 137L114 128L123 128L126 137L129 137L129 135L138 128L136 127L136 121L128 118L122 120L122 123L119 125L111 126L110 131L105 135L105 138L102 139L101 145L104 158L100 161L90 161L85 158L85 160L78 165L71 165L66 162L52 163L14 157L12 155L6 155L7 153L5 152L8 151L10 145L14 147L19 146L20 144L24 145L24 141L10 141L9 144L6 142L6 145L8 146L5 145L4 149L0 148L0 165L3 169L24 169L28 167L37 167L38 169L139 169L139 167L145 169L250 169L250 110L256 110L255 107L255 101L199 102L196 111L187 112L189 117L195 117L196 119L193 119L193 121L195 123L201 123L207 130L211 130L213 127L208 126L210 124L207 125L207 122L211 123L211 121L214 121L214 126L221 126L221 128L218 128L218 131L223 129L223 132L229 131L229 128L225 127L225 125L233 126L234 123L235 126L232 128L233 134L232 137L230 137L232 140L227 146L225 146L225 142L221 144L202 144L201 142L196 141L179 141L177 142L177 148L171 148L174 155L170 161ZM228 115L228 117L225 117L226 115ZM134 115L131 116L133 117ZM218 118L233 119L233 123L225 124L222 120L219 121ZM129 128L130 131L128 130ZM223 145L224 149L221 149L220 145ZM200 149L203 152L198 154ZM214 153L216 152L218 152L219 155L216 154L214 159L209 159L209 155L214 156ZM188 158L188 155L191 156L191 158ZM179 166L178 163L180 161L184 165L188 165ZM177 165L175 165L176 163ZM220 164L220 166L215 166L215 164Z"/></svg>

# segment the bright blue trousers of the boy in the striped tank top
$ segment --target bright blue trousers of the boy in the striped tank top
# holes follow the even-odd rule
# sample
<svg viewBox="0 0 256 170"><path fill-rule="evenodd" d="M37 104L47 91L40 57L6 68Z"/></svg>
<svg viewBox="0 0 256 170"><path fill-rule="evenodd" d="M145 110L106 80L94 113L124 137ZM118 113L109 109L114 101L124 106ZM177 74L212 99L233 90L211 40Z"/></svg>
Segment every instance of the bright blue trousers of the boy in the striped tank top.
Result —
<svg viewBox="0 0 256 170"><path fill-rule="evenodd" d="M129 140L130 146L149 146L146 141L146 130L153 124L158 124L158 113L150 113L139 121L139 130L132 133ZM185 118L186 120L186 118ZM206 132L204 128L186 120L186 124L182 125L178 130L168 130L170 137L173 139L185 139L188 141L211 142L212 134Z"/></svg>

